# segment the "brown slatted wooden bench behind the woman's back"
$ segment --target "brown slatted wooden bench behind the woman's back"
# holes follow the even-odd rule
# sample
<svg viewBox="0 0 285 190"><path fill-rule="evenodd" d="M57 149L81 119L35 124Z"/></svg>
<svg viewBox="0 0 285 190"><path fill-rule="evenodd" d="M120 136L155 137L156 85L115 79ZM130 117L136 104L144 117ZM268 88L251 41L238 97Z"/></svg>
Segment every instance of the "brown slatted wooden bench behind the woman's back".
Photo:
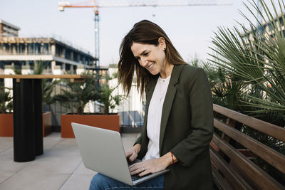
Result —
<svg viewBox="0 0 285 190"><path fill-rule="evenodd" d="M221 122L217 117L224 117ZM285 156L276 150L249 137L235 127L246 125L269 137L285 142L285 129L257 120L242 113L214 105L214 133L210 155L212 174L216 189L285 189L276 179L267 174L254 159L257 157L285 174ZM238 144L238 146L235 146ZM238 143L237 143L238 142ZM236 147L244 147L237 149ZM284 175L285 176L285 175Z"/></svg>

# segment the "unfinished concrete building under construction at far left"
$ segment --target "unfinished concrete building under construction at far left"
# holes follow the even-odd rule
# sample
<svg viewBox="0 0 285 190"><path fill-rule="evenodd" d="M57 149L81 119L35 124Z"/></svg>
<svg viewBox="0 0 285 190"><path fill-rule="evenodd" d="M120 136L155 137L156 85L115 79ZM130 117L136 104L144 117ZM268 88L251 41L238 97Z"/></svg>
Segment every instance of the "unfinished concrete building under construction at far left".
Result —
<svg viewBox="0 0 285 190"><path fill-rule="evenodd" d="M14 73L11 68L21 69L23 74L33 73L33 66L39 62L47 68L44 73L49 74L95 69L90 53L54 38L20 38L20 28L4 21L0 28L0 74Z"/></svg>

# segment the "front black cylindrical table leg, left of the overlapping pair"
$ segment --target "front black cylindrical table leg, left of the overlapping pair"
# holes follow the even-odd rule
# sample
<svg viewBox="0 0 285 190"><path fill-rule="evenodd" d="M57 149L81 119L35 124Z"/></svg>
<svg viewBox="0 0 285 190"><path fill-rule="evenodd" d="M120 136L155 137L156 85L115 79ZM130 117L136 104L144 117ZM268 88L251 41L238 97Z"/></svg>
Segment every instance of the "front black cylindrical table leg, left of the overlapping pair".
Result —
<svg viewBox="0 0 285 190"><path fill-rule="evenodd" d="M33 107L33 80L13 79L14 104L14 161L35 159L35 128Z"/></svg>

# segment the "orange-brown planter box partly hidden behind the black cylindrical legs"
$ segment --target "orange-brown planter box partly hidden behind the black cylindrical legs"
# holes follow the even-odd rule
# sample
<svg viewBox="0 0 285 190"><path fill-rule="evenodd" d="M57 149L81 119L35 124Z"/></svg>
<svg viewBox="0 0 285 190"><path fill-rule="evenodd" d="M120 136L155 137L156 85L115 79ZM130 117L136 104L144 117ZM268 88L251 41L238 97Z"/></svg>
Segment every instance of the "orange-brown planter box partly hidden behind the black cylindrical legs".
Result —
<svg viewBox="0 0 285 190"><path fill-rule="evenodd" d="M0 114L0 137L13 137L13 114ZM51 134L51 112L43 113L43 137Z"/></svg>

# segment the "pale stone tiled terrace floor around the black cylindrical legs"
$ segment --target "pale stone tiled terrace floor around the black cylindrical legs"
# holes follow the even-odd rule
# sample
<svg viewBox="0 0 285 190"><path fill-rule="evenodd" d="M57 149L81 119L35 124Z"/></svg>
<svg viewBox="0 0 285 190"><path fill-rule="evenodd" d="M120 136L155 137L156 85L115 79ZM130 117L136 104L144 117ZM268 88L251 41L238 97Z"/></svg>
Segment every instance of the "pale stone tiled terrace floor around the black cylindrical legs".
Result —
<svg viewBox="0 0 285 190"><path fill-rule="evenodd" d="M125 149L138 134L122 134ZM13 138L0 137L0 189L88 189L95 171L86 169L75 139L60 133L43 138L44 153L32 162L13 161Z"/></svg>

